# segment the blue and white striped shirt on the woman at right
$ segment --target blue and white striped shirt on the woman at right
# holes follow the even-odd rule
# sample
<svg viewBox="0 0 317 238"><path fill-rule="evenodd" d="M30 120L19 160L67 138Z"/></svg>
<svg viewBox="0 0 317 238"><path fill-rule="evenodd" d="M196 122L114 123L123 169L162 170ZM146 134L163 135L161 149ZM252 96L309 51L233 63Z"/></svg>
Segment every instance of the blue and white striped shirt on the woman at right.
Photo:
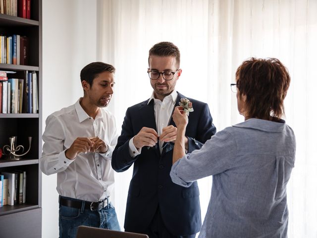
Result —
<svg viewBox="0 0 317 238"><path fill-rule="evenodd" d="M199 238L285 238L286 184L295 162L293 130L281 120L248 119L216 133L171 169L174 183L212 177Z"/></svg>

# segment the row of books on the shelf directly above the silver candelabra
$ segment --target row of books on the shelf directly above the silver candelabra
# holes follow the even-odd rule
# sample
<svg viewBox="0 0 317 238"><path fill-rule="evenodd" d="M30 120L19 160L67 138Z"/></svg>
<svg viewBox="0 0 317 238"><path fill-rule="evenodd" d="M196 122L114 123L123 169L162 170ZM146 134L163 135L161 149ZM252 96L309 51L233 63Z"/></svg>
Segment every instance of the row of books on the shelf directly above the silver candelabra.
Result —
<svg viewBox="0 0 317 238"><path fill-rule="evenodd" d="M0 75L6 75L0 71ZM35 71L25 71L24 78L0 76L0 113L37 113L38 80Z"/></svg>

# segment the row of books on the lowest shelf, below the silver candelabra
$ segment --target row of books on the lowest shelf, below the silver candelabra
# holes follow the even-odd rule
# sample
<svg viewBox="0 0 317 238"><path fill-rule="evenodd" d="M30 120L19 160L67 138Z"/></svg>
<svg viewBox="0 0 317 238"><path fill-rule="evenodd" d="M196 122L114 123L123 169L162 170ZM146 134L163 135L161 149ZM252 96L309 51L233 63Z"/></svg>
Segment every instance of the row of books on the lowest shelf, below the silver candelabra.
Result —
<svg viewBox="0 0 317 238"><path fill-rule="evenodd" d="M0 174L0 207L25 203L26 172L1 172Z"/></svg>

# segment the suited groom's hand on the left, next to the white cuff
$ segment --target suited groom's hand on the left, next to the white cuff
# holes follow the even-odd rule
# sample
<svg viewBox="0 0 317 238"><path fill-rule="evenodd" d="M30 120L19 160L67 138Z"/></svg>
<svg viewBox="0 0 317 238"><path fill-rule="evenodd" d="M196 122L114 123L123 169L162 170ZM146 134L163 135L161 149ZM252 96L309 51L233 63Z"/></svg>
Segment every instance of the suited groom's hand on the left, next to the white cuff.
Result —
<svg viewBox="0 0 317 238"><path fill-rule="evenodd" d="M158 142L158 133L153 128L143 127L139 133L134 136L133 144L137 149L143 146L155 146Z"/></svg>

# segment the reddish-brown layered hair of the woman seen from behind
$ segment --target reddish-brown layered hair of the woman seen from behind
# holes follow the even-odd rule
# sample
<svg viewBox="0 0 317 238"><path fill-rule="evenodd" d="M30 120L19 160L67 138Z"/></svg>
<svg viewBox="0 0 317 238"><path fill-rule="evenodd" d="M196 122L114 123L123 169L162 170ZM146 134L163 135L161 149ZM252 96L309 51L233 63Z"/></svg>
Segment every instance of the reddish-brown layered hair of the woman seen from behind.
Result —
<svg viewBox="0 0 317 238"><path fill-rule="evenodd" d="M281 118L290 84L287 68L275 58L245 60L236 72L239 97L246 95L249 118Z"/></svg>

